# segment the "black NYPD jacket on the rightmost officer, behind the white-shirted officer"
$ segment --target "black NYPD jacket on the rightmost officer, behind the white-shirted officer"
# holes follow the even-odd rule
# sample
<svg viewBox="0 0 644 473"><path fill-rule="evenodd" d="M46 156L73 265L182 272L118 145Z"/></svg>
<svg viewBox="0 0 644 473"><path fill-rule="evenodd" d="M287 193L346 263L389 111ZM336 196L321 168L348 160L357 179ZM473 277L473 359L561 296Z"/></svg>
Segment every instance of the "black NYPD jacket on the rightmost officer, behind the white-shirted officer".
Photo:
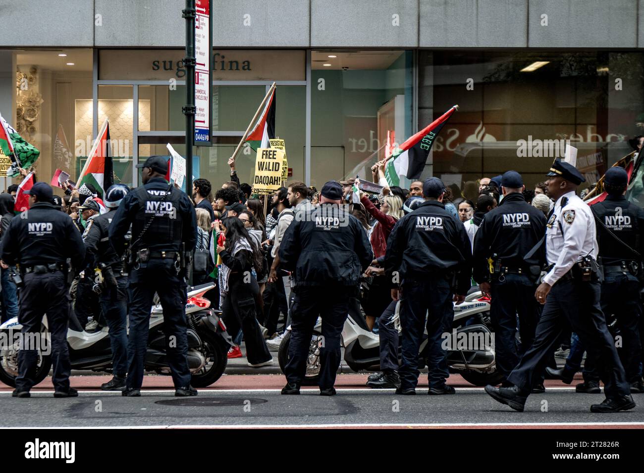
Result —
<svg viewBox="0 0 644 473"><path fill-rule="evenodd" d="M639 254L644 254L644 210L639 205L629 202L624 196L608 196L604 201L593 204L592 210L615 236ZM603 225L597 221L595 223L599 256L604 265L624 260L640 260L626 246L618 243Z"/></svg>

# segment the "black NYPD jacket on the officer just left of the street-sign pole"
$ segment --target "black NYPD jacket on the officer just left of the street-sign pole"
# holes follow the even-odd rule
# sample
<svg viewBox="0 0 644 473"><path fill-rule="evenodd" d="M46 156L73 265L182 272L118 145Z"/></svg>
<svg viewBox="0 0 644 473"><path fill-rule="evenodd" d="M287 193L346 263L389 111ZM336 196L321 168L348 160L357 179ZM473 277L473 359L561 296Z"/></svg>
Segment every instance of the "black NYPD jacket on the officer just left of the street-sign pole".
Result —
<svg viewBox="0 0 644 473"><path fill-rule="evenodd" d="M170 192L169 195L166 195ZM142 230L152 219L145 234ZM109 225L109 238L117 254L124 250L125 236L132 226L132 250L148 248L153 251L194 250L196 215L185 192L170 187L164 178L152 178L128 192L118 206Z"/></svg>

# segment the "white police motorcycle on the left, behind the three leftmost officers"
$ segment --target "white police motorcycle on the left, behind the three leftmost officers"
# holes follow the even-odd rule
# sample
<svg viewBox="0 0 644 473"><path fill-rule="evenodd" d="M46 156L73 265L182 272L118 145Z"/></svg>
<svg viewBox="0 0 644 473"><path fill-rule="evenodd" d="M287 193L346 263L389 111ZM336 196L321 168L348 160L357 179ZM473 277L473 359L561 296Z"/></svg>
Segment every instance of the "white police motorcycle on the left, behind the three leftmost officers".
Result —
<svg viewBox="0 0 644 473"><path fill-rule="evenodd" d="M204 293L214 288L214 284L202 284L189 287L187 303L185 304L185 317L187 320L188 340L188 366L192 373L191 384L194 387L206 387L218 380L228 362L227 352L233 345L226 326L220 319L220 311L210 308L210 301L205 299ZM22 325L17 317L7 320L0 325L0 337L10 340L10 346L3 346L0 353L0 381L15 387L15 378L18 375L18 348L19 342L11 342L15 332L19 332ZM170 367L167 364L166 335L163 331L163 308L155 296L155 305L151 310L149 322L149 336L145 357L145 369L160 375L169 375ZM10 337L14 332L14 337ZM42 347L50 346L47 319L43 317L41 329ZM87 332L71 311L70 326L67 331L67 343L70 353L71 369L82 369L111 372L112 352L109 344L108 328L99 331ZM45 350L47 351L47 350ZM43 351L38 353L38 367L35 375L35 384L43 381L52 367L52 357Z"/></svg>

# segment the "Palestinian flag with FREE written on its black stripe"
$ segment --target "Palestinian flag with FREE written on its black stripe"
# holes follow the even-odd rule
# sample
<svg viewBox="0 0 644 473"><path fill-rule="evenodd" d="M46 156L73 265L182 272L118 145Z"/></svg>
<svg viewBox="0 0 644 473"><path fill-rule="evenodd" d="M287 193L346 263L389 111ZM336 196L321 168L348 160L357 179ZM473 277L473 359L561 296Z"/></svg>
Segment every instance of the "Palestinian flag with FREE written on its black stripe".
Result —
<svg viewBox="0 0 644 473"><path fill-rule="evenodd" d="M458 109L457 105L451 107L430 125L408 138L393 152L392 158L388 160L384 168L384 177L390 186L402 183L406 187L405 179L415 180L421 177L421 172L430 154L431 145L451 114Z"/></svg>

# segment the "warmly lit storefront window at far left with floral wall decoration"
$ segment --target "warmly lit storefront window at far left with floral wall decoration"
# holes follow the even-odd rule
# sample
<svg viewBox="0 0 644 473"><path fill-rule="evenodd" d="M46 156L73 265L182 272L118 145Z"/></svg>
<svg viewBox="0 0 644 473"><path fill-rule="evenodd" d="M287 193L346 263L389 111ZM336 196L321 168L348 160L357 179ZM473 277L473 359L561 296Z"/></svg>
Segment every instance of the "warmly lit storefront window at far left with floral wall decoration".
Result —
<svg viewBox="0 0 644 473"><path fill-rule="evenodd" d="M41 152L33 164L37 178L50 181L55 170L62 169L75 179L81 171L79 158L87 153L86 134L91 147L91 50L0 53L5 66L10 64L14 69L12 75L1 76L1 103L6 106L0 111L24 140ZM3 181L6 189L19 178ZM62 194L62 190L57 193Z"/></svg>

